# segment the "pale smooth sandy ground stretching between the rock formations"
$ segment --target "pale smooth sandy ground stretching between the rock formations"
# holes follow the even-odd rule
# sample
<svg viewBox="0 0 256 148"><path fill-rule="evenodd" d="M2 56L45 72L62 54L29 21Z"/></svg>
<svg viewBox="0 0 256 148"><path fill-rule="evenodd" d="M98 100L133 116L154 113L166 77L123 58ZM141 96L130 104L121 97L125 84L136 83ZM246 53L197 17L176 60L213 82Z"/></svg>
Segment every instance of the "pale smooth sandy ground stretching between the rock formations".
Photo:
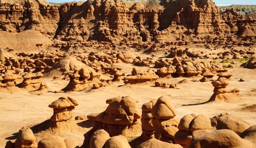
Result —
<svg viewBox="0 0 256 148"><path fill-rule="evenodd" d="M130 73L134 67L132 64L121 64L123 71ZM148 67L139 67L147 70ZM251 125L256 124L255 112L242 111L244 106L256 104L256 71L237 67L229 70L232 74L232 80L229 81L227 89L240 89L240 96L243 99L240 103L235 104L216 104L204 103L209 100L213 94L214 87L211 82L189 82L177 84L180 89L162 89L153 85L123 85L123 83L114 83L114 85L101 87L97 90L88 92L69 92L53 93L45 92L36 94L35 92L17 91L17 92L0 92L0 147L4 147L8 139L14 133L18 132L24 126L39 124L51 117L53 110L48 107L50 103L61 96L70 96L76 98L80 105L73 110L74 117L78 114L99 113L105 110L108 104L106 99L116 96L132 96L139 100L137 103L138 111L141 112L142 104L157 99L161 96L170 96L171 103L177 111L177 118L182 118L186 114L204 114L207 117L214 117L220 113L231 113L240 117ZM214 77L216 79L217 76ZM239 82L244 78L245 82ZM177 83L185 78L162 79L164 82ZM191 79L189 79L191 80ZM44 78L49 88L53 91L64 88L68 81L52 80ZM15 134L14 134L15 135ZM83 142L83 135L79 135L80 145Z"/></svg>

